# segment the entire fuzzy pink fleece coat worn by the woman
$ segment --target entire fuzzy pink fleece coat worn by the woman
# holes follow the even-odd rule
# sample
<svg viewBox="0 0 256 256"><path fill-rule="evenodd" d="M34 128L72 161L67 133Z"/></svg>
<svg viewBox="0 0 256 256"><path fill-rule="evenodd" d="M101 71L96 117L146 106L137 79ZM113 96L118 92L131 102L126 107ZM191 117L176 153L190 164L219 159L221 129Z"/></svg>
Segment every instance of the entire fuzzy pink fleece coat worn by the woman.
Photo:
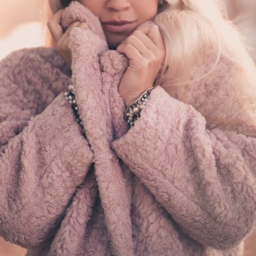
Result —
<svg viewBox="0 0 256 256"><path fill-rule="evenodd" d="M0 63L0 235L27 256L110 255L109 240L116 256L242 255L256 222L256 138L209 129L195 101L212 108L225 94L198 89L185 104L156 85L129 129L118 93L128 60L77 2L63 26L75 19L90 30L72 31L72 79L53 48ZM223 77L225 62L208 84ZM88 141L64 98L71 81Z"/></svg>

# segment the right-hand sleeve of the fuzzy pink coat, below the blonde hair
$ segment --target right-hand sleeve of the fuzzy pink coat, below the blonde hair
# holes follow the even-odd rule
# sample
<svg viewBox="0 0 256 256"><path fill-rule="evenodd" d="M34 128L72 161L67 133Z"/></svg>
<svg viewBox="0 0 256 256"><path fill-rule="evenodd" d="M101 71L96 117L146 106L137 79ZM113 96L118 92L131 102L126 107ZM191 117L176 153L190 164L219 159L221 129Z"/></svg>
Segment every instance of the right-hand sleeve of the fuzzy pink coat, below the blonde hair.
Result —
<svg viewBox="0 0 256 256"><path fill-rule="evenodd" d="M160 86L112 148L190 237L219 250L256 222L256 138L206 129Z"/></svg>

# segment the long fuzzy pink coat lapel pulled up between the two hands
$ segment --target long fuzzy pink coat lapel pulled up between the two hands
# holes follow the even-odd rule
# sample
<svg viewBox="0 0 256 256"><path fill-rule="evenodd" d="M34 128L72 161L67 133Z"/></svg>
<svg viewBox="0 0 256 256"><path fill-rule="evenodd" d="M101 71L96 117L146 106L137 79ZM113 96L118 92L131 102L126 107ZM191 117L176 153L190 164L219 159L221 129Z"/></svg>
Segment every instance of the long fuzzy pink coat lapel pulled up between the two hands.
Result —
<svg viewBox="0 0 256 256"><path fill-rule="evenodd" d="M64 26L75 19L85 21L90 28L74 28L71 32L72 81L94 154L94 171L105 222L114 254L134 255L130 218L131 178L129 174L123 174L118 157L110 148L114 137L127 131L123 120L125 104L118 93L127 60L118 52L108 50L100 21L78 2L72 2L63 13ZM113 61L117 60L121 60L118 65L122 68L112 67ZM106 68L103 73L102 68Z"/></svg>

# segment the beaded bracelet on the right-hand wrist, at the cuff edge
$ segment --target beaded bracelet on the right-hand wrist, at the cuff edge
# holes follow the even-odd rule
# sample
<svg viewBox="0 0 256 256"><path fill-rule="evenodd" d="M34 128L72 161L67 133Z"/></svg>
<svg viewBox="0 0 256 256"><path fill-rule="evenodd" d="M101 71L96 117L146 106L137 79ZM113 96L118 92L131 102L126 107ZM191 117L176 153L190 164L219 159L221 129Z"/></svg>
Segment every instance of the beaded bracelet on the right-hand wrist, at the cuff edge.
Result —
<svg viewBox="0 0 256 256"><path fill-rule="evenodd" d="M134 102L132 102L127 109L125 110L125 121L129 123L130 127L134 126L134 122L141 117L141 110L144 108L144 105L146 105L147 100L150 98L151 90L154 89L154 87L145 90L141 96Z"/></svg>

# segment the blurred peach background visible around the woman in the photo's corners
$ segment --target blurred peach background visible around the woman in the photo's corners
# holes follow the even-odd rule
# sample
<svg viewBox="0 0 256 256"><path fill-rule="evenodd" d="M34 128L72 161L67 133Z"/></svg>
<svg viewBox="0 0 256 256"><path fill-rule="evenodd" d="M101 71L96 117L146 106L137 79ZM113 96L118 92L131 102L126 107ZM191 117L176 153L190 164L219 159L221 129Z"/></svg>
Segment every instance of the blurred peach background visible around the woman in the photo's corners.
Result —
<svg viewBox="0 0 256 256"><path fill-rule="evenodd" d="M256 0L222 0L226 15L243 36L256 63ZM207 4L207 1L205 1ZM46 44L47 16L43 0L1 1L0 60L15 49ZM24 256L26 250L0 238L0 256ZM243 256L256 256L256 229L245 240Z"/></svg>

